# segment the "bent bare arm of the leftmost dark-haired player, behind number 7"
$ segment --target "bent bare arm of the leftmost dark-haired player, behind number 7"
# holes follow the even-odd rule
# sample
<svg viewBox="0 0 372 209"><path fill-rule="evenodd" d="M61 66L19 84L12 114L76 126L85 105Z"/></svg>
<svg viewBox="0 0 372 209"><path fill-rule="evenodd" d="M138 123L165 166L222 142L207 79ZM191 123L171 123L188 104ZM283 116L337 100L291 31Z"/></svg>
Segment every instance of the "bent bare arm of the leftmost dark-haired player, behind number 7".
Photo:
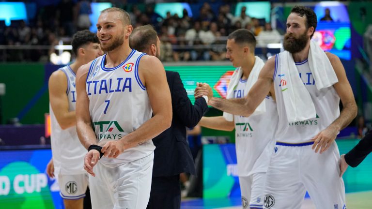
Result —
<svg viewBox="0 0 372 209"><path fill-rule="evenodd" d="M67 77L62 70L55 71L49 77L49 101L58 124L62 129L76 124L75 111L69 111L69 102L66 94Z"/></svg>

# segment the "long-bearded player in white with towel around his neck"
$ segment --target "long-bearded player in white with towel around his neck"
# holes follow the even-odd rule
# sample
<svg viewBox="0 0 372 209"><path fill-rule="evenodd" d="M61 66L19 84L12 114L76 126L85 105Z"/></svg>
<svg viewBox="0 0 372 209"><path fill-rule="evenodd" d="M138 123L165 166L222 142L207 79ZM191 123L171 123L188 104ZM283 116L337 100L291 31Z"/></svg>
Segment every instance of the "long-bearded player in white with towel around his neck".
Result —
<svg viewBox="0 0 372 209"><path fill-rule="evenodd" d="M267 170L265 208L298 209L301 207L306 190L316 208L346 208L344 184L339 177L340 153L334 140L339 131L356 117L357 107L345 70L337 56L323 51L317 52L317 55L326 61L324 63L331 66L328 69L316 69L331 74L334 71L333 76L337 77L338 82L320 90L315 85L325 79L325 77L314 79L318 74L313 75L308 61L310 45L313 45L313 49L319 49L319 46L314 46L314 43L310 44L316 25L317 18L311 9L295 6L287 18L287 33L283 43L287 52L282 52L266 62L258 81L246 97L232 100L213 97L209 103L225 112L249 116L274 85L279 123L275 134L277 140L275 153ZM282 59L284 56L287 59ZM313 61L316 64L321 60ZM283 75L283 71L289 71L281 67L284 64L296 68L293 69L292 75L297 73L302 75L300 76L304 84L302 88L305 87L304 90L309 93L307 95L312 100L312 107L315 107L316 118L314 113L312 119L289 122L287 114L291 112L286 112L289 105L284 105L287 101L283 99L283 92L286 92L286 89L281 89L280 86L280 80L284 79L282 76L287 76L287 80L290 79L288 75ZM298 79L298 77L293 76L291 79ZM294 86L288 86L288 88L292 87ZM302 101L303 97L304 95L299 95L295 99ZM343 104L341 114L340 99ZM295 106L301 110L307 110L308 107L309 104ZM315 149L315 152L311 148ZM318 151L321 154L316 154Z"/></svg>

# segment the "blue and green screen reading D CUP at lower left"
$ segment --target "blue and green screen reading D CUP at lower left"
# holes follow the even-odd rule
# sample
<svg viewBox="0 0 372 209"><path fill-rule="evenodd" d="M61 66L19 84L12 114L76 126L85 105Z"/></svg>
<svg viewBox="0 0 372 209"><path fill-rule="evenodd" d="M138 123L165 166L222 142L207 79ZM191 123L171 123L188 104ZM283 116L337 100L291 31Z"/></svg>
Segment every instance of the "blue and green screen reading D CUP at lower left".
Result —
<svg viewBox="0 0 372 209"><path fill-rule="evenodd" d="M45 170L50 149L0 150L0 202L9 209L62 209L56 179Z"/></svg>

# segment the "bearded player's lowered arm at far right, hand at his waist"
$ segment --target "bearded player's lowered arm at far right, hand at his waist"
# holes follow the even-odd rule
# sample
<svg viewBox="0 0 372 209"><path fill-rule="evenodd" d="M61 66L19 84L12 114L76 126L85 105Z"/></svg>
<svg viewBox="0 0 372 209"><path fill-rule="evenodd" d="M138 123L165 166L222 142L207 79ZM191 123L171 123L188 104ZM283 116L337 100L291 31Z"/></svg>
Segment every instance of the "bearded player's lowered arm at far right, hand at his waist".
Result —
<svg viewBox="0 0 372 209"><path fill-rule="evenodd" d="M326 53L326 55L332 64L337 78L339 79L339 82L334 84L333 87L341 99L343 109L337 119L335 119L325 130L314 136L313 140L315 142L312 149L315 149L315 152L318 152L320 149L320 153L330 147L332 144L331 142L336 139L337 133L341 131L341 129L345 128L356 117L357 113L353 90L347 80L341 60L334 54Z"/></svg>

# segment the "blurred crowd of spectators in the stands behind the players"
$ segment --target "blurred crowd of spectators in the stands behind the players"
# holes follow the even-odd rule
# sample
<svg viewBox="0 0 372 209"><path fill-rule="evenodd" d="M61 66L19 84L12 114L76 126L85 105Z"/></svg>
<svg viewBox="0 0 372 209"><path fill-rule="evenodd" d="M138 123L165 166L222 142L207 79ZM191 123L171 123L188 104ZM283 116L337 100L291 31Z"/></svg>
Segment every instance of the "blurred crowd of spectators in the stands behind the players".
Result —
<svg viewBox="0 0 372 209"><path fill-rule="evenodd" d="M154 12L154 3L127 4L125 0L111 0L112 6L127 11L133 27L151 24L158 32L163 61L225 60L227 36L234 30L246 28L257 37L259 45L280 43L281 34L265 19L246 15L242 7L240 15L233 15L230 3L221 3L216 13L210 3L204 2L197 17L190 17L187 10L182 18L167 13L166 18ZM37 8L35 18L26 23L12 21L10 27L0 22L0 45L37 46L26 50L8 50L0 53L0 60L47 62L55 51L54 46L68 45L78 30L92 25L90 1L61 0ZM268 38L269 37L269 38Z"/></svg>

